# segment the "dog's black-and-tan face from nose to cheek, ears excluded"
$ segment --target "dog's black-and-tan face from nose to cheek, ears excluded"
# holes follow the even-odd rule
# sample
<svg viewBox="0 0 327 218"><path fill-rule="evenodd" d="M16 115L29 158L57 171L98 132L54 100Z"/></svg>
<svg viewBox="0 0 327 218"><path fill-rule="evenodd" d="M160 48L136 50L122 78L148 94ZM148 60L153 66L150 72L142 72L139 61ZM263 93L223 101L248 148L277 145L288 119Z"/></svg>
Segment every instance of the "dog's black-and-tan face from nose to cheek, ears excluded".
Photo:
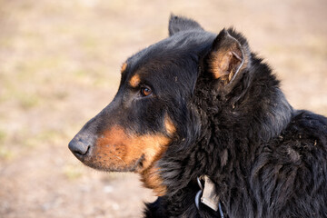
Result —
<svg viewBox="0 0 327 218"><path fill-rule="evenodd" d="M80 161L104 171L141 173L147 187L158 189L155 162L169 144L183 140L179 125L197 74L193 52L174 46L181 41L172 36L123 64L114 100L69 145Z"/></svg>

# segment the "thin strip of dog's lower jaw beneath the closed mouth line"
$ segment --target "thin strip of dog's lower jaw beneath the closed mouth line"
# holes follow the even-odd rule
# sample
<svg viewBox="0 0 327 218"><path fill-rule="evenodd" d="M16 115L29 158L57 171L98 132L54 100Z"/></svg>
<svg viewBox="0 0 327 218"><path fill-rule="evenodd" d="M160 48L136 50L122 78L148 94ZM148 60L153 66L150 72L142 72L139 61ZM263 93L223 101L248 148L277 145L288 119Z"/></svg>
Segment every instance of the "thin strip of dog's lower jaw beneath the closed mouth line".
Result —
<svg viewBox="0 0 327 218"><path fill-rule="evenodd" d="M139 159L134 160L134 162L130 164L117 164L117 163L97 161L95 158L82 161L82 163L84 163L86 166L91 167L98 171L132 172L132 173L139 173L143 171L143 162L144 162L144 155L142 155Z"/></svg>

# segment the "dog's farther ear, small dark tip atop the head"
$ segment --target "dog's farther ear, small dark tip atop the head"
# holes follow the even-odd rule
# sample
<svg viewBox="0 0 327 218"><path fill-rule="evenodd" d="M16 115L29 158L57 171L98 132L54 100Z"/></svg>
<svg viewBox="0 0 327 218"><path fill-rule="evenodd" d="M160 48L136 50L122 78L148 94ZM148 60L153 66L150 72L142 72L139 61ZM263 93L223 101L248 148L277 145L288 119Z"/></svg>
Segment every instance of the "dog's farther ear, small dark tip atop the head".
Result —
<svg viewBox="0 0 327 218"><path fill-rule="evenodd" d="M199 29L203 30L203 27L192 19L185 18L183 16L171 15L169 19L169 36L172 36L180 31Z"/></svg>

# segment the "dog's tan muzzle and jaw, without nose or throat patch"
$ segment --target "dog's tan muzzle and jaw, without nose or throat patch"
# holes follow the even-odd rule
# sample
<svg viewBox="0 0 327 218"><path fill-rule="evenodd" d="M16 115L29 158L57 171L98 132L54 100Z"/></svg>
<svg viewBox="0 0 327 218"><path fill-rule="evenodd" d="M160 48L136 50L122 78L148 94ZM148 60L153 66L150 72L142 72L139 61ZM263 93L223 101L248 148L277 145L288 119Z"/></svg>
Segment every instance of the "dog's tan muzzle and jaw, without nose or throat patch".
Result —
<svg viewBox="0 0 327 218"><path fill-rule="evenodd" d="M158 160L170 142L164 134L126 134L123 128L114 126L85 148L84 155L75 156L98 170L141 173Z"/></svg>

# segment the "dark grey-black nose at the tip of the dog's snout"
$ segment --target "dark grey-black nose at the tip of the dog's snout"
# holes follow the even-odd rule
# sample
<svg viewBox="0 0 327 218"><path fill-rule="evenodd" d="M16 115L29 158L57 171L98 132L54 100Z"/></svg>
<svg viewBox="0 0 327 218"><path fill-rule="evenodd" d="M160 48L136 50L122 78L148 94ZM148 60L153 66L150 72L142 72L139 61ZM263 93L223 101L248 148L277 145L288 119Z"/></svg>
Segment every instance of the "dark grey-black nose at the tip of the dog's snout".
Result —
<svg viewBox="0 0 327 218"><path fill-rule="evenodd" d="M68 148L78 158L86 156L92 146L92 140L90 137L84 135L76 135L74 139L68 144Z"/></svg>

